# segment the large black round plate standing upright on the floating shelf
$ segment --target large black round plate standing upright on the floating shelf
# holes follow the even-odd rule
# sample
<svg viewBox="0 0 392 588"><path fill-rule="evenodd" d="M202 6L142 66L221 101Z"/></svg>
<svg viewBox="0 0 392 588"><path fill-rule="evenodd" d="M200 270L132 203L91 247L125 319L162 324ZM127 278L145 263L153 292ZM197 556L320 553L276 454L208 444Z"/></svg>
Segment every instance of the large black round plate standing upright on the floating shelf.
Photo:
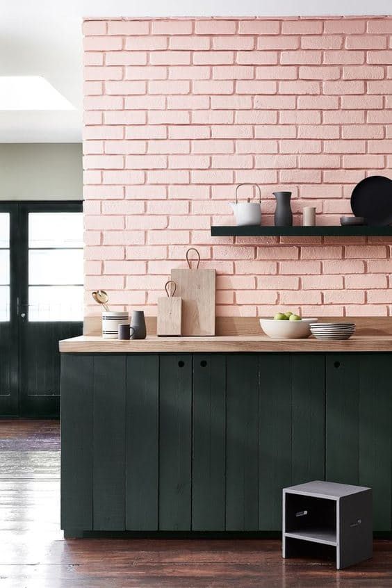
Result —
<svg viewBox="0 0 392 588"><path fill-rule="evenodd" d="M366 224L386 226L392 223L392 180L370 176L357 183L351 195L355 216L363 216Z"/></svg>

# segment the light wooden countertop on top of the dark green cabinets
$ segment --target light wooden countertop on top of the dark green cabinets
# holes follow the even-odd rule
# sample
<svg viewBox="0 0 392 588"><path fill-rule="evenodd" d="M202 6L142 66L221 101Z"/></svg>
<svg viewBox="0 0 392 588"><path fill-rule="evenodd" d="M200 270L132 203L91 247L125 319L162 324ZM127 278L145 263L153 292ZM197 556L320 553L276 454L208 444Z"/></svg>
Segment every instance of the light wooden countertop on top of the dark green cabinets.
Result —
<svg viewBox="0 0 392 588"><path fill-rule="evenodd" d="M157 337L118 341L83 335L59 342L62 353L181 353L181 352L392 352L392 335L354 335L348 341L308 339L271 339L260 335L226 335L215 337Z"/></svg>

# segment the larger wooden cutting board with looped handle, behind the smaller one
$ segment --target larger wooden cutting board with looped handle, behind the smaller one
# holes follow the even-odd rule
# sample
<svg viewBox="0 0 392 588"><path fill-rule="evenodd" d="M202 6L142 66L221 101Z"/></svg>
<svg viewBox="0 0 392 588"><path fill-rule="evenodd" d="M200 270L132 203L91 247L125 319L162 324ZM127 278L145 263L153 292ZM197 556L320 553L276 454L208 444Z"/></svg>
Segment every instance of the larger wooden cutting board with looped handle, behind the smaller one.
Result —
<svg viewBox="0 0 392 588"><path fill-rule="evenodd" d="M197 266L190 267L189 252L197 253ZM215 335L215 270L199 269L200 255L193 247L186 252L188 269L173 269L171 279L182 298L181 334Z"/></svg>

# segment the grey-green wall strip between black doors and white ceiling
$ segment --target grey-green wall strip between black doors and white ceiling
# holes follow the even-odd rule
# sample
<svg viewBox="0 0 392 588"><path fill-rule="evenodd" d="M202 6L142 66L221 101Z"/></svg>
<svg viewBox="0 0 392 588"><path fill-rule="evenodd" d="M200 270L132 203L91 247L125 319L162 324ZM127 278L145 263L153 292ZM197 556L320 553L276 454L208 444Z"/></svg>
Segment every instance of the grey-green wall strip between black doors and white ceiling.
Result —
<svg viewBox="0 0 392 588"><path fill-rule="evenodd" d="M81 200L81 143L0 144L0 200Z"/></svg>

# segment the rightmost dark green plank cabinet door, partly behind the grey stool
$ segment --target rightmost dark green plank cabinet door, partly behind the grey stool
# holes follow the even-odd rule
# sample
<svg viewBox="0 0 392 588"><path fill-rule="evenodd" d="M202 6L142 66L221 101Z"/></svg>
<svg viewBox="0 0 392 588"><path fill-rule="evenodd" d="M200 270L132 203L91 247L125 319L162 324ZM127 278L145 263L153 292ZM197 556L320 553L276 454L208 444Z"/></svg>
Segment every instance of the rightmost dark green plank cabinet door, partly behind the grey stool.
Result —
<svg viewBox="0 0 392 588"><path fill-rule="evenodd" d="M328 480L373 487L375 529L391 530L391 356L327 357Z"/></svg>

